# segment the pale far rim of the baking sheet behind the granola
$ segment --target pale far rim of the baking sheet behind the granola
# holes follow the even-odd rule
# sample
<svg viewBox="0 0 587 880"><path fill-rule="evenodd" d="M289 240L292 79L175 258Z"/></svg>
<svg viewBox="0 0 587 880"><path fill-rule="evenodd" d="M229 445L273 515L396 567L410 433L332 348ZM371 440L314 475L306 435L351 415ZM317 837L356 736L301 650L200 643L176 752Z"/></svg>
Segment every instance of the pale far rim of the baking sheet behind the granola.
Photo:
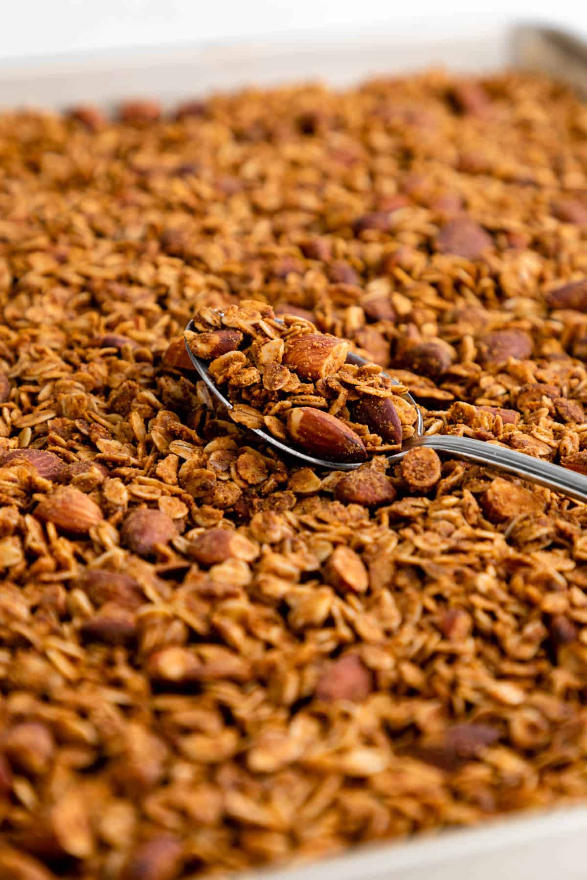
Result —
<svg viewBox="0 0 587 880"><path fill-rule="evenodd" d="M445 65L490 70L506 62L503 28L471 39L436 40L423 34L393 40L393 33L331 42L275 40L232 47L184 47L158 51L104 52L28 62L0 62L0 106L114 106L148 97L164 105L206 92L246 85L325 79L341 86L378 74Z"/></svg>

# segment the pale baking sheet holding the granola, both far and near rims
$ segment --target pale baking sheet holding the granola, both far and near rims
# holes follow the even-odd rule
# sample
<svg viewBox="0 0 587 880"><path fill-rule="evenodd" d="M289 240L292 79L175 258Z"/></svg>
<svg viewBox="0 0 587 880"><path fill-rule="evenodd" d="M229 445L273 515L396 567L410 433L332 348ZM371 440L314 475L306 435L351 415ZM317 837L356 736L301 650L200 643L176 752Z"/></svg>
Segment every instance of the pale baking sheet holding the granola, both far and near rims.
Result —
<svg viewBox="0 0 587 880"><path fill-rule="evenodd" d="M535 47L536 48L536 47ZM209 91L251 84L324 79L347 85L378 74L444 65L485 71L510 62L512 33L503 28L474 39L425 34L396 41L285 41L237 47L160 49L0 62L0 106L114 106L128 97L164 105ZM537 55L534 52L534 62ZM556 62L554 62L556 63ZM473 830L419 836L356 849L334 859L278 871L264 880L584 880L587 807L507 818ZM243 876L244 877L244 876ZM246 877L253 877L247 874Z"/></svg>

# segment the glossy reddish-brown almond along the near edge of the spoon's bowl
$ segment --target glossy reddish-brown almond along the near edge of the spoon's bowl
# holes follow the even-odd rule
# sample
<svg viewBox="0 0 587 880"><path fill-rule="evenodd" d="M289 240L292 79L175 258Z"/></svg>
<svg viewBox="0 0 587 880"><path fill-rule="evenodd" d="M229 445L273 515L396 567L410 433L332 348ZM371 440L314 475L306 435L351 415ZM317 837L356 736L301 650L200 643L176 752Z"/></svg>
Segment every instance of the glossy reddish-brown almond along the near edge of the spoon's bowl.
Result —
<svg viewBox="0 0 587 880"><path fill-rule="evenodd" d="M292 440L310 455L327 461L366 461L367 451L360 436L334 415L313 407L298 407L288 413Z"/></svg>

